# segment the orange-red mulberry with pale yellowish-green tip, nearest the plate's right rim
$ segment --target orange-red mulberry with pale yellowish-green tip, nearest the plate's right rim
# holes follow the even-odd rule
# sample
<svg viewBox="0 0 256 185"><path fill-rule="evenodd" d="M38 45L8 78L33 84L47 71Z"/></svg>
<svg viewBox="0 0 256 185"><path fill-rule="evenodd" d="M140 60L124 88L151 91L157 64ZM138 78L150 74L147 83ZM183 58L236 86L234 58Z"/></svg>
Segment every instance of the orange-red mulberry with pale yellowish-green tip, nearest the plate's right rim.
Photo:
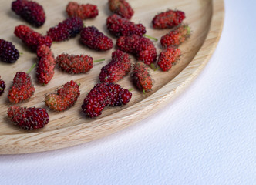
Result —
<svg viewBox="0 0 256 185"><path fill-rule="evenodd" d="M188 25L180 25L171 30L161 38L161 45L163 48L168 46L177 47L182 44L190 36L190 27Z"/></svg>

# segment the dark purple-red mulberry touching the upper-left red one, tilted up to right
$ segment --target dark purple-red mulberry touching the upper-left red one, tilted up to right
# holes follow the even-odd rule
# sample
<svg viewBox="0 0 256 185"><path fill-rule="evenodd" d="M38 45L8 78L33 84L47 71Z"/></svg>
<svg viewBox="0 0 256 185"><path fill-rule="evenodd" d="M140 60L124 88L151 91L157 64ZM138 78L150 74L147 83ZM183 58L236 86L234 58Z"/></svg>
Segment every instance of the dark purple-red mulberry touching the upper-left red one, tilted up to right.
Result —
<svg viewBox="0 0 256 185"><path fill-rule="evenodd" d="M47 32L53 41L59 42L75 37L83 29L83 21L81 18L67 18L58 25L52 27Z"/></svg>

